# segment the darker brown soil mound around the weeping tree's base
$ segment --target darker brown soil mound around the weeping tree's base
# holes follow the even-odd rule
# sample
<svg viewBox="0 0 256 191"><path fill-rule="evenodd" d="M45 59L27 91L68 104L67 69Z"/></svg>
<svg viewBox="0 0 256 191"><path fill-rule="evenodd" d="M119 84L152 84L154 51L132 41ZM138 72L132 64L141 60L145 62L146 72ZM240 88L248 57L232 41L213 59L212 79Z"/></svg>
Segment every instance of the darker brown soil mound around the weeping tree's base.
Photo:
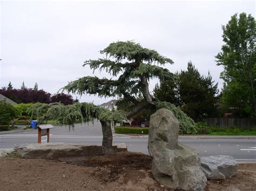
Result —
<svg viewBox="0 0 256 191"><path fill-rule="evenodd" d="M139 180L152 178L150 174L151 156L142 153L120 152L109 156L62 158L59 160L72 165L96 167L91 175L104 182L118 181L126 184L129 181L137 183ZM155 186L159 185L154 185L153 188Z"/></svg>

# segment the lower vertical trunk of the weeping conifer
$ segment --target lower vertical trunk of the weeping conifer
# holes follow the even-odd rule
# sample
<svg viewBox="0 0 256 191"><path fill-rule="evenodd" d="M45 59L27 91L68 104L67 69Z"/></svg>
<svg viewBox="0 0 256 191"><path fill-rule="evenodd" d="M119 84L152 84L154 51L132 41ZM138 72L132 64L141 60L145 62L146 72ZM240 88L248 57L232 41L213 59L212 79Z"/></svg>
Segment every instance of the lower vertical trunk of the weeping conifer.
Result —
<svg viewBox="0 0 256 191"><path fill-rule="evenodd" d="M113 135L110 121L100 121L102 124L102 150L103 154L113 154L114 150L112 147Z"/></svg>

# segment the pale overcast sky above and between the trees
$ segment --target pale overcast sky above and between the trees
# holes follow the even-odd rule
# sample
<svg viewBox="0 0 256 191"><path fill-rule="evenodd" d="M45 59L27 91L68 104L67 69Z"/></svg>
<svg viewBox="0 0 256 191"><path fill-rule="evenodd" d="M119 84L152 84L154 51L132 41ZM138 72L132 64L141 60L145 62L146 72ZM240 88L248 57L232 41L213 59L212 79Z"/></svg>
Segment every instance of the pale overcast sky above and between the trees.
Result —
<svg viewBox="0 0 256 191"><path fill-rule="evenodd" d="M255 17L255 1L1 1L0 11L1 87L9 81L15 88L37 82L56 93L68 81L91 76L82 64L102 57L99 50L134 40L171 58L174 64L165 66L171 72L185 70L192 60L221 88L223 69L214 61L223 44L221 25L234 13ZM150 81L151 91L156 83ZM83 95L80 101L110 99Z"/></svg>

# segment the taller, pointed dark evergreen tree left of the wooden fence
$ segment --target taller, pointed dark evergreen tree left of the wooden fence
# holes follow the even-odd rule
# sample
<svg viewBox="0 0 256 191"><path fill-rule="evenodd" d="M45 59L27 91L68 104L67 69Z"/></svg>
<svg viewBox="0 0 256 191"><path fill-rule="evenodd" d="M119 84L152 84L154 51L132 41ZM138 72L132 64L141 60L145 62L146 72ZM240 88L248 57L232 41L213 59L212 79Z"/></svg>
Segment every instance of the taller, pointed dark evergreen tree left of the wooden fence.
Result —
<svg viewBox="0 0 256 191"><path fill-rule="evenodd" d="M180 72L181 110L192 119L213 117L217 111L215 106L215 95L217 93L218 84L214 84L210 73L207 77L201 76L192 62L188 62L187 71Z"/></svg>

